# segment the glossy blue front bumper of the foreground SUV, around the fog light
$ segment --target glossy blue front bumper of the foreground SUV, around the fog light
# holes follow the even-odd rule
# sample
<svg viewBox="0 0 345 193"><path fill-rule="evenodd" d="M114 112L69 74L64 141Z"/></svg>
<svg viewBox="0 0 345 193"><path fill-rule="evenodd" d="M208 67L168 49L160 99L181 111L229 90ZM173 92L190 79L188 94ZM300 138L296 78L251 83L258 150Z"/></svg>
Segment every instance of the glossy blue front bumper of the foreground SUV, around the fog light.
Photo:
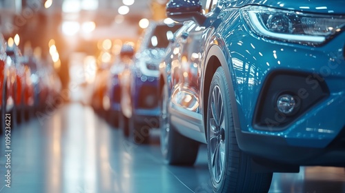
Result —
<svg viewBox="0 0 345 193"><path fill-rule="evenodd" d="M223 34L221 30L219 33ZM239 148L253 156L282 163L344 165L345 33L320 47L257 39L244 28L236 33L237 36L230 36L224 32L224 39L229 45L228 50L232 51L228 63L233 71L235 113L238 113L238 120L235 120L238 124L235 125L239 125L235 131ZM269 128L257 124L257 116L264 114L257 109L263 104L261 98L265 86L273 82L267 80L275 72L321 77L320 82L326 89L320 89L324 95L315 98L315 103L306 105L293 119ZM305 84L298 86L301 89L310 86L311 92L306 88L309 94L322 88L315 79L305 80ZM282 90L279 87L279 91L295 92L295 79L279 83L284 86ZM264 97L277 99L276 96ZM306 102L312 100L308 97ZM275 109L276 101L273 100L264 102L268 109ZM278 123L282 120L275 118L273 121Z"/></svg>

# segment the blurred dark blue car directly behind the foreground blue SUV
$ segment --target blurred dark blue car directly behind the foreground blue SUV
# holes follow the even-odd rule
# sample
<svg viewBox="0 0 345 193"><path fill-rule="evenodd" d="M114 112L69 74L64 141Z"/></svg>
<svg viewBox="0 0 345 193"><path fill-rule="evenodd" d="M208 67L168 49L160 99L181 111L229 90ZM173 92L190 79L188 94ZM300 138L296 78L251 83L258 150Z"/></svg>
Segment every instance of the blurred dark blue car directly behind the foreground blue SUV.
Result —
<svg viewBox="0 0 345 193"><path fill-rule="evenodd" d="M169 39L180 27L181 24L173 22L152 21L135 53L130 74L121 80L126 82L124 88L128 88L122 94L129 96L121 98L128 100L121 102L122 114L125 116L122 120L126 122L123 124L124 134L129 135L135 143L148 143L150 128L159 127L159 63Z"/></svg>

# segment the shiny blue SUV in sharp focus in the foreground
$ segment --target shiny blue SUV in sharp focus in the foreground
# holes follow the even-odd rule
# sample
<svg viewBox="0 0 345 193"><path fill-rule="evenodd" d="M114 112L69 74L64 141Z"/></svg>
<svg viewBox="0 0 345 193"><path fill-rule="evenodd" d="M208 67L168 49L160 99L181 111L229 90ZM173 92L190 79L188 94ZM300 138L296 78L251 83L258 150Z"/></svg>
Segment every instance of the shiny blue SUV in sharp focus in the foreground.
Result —
<svg viewBox="0 0 345 193"><path fill-rule="evenodd" d="M161 63L161 151L208 148L214 192L268 192L273 172L345 166L345 1L170 0L186 22Z"/></svg>

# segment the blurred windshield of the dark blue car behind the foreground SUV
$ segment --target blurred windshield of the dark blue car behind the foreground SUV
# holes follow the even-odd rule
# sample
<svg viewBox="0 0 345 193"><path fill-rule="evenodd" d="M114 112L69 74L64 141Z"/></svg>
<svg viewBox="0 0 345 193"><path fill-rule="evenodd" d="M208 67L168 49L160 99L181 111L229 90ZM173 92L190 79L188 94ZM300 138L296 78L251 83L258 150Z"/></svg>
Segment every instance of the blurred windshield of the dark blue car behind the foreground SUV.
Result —
<svg viewBox="0 0 345 193"><path fill-rule="evenodd" d="M166 48L169 40L174 37L176 30L181 28L181 25L174 26L157 26L152 33L151 39L148 41L148 48Z"/></svg>

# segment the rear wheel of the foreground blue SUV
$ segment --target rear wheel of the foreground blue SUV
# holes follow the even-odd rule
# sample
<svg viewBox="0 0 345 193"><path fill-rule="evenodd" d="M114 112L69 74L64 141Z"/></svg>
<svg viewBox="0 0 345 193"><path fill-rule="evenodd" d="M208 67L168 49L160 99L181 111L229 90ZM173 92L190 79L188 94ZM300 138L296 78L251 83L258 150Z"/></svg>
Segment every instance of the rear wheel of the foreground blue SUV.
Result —
<svg viewBox="0 0 345 193"><path fill-rule="evenodd" d="M170 165L193 165L197 159L199 143L177 132L168 114L168 90L164 85L161 94L160 144L161 154Z"/></svg>

